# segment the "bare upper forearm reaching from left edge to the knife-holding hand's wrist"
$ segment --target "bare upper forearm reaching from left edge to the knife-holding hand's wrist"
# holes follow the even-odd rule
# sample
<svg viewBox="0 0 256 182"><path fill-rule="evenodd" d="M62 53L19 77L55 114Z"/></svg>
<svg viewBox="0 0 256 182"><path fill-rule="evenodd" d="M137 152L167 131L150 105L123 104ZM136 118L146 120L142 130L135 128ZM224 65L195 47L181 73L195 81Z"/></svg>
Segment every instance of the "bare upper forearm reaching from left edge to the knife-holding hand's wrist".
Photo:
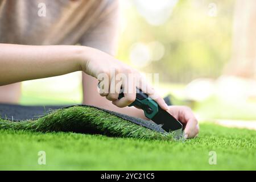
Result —
<svg viewBox="0 0 256 182"><path fill-rule="evenodd" d="M0 44L0 85L81 71L85 48Z"/></svg>

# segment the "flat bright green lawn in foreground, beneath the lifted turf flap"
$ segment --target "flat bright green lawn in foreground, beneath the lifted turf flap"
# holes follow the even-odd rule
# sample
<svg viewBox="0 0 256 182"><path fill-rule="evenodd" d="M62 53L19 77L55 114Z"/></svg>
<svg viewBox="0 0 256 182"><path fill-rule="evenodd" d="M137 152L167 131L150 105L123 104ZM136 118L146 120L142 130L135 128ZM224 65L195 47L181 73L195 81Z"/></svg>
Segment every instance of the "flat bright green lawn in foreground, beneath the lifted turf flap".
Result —
<svg viewBox="0 0 256 182"><path fill-rule="evenodd" d="M196 139L113 138L76 133L0 130L0 169L255 170L256 132L204 123ZM46 152L46 165L38 152ZM209 152L217 164L210 165Z"/></svg>

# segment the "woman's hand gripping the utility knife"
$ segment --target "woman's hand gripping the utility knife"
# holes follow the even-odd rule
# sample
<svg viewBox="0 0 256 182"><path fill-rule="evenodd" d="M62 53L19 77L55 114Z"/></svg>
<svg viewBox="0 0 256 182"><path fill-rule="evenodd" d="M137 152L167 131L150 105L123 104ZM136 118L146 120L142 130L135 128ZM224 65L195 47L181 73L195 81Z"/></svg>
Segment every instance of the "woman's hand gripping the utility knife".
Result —
<svg viewBox="0 0 256 182"><path fill-rule="evenodd" d="M163 98L155 92L135 69L129 67L114 57L93 48L86 48L86 60L81 62L82 71L100 81L100 95L118 107L126 107L136 99L136 87L148 94L162 109L168 106ZM124 96L118 100L119 93L123 89Z"/></svg>

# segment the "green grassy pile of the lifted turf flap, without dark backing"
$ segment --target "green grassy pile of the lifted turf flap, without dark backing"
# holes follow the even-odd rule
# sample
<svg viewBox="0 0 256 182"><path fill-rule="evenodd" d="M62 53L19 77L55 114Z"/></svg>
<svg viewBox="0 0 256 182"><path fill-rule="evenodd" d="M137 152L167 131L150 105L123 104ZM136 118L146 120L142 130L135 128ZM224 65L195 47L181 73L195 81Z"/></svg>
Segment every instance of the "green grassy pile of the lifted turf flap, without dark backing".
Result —
<svg viewBox="0 0 256 182"><path fill-rule="evenodd" d="M0 119L0 129L27 130L42 133L69 131L139 139L174 139L174 134L172 133L159 133L90 106L73 106L53 110L51 113L35 120L13 122Z"/></svg>

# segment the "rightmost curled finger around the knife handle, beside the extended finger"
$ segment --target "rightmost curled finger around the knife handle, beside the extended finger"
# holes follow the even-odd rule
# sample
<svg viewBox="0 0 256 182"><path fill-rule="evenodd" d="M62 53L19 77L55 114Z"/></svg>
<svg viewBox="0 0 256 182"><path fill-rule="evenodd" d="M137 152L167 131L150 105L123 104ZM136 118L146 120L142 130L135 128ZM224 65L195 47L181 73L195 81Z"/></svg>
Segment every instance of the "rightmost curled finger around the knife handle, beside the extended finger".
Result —
<svg viewBox="0 0 256 182"><path fill-rule="evenodd" d="M120 100L115 100L112 102L118 107L129 106L136 100L136 86L134 80L123 81L122 87L124 97L122 97Z"/></svg>

